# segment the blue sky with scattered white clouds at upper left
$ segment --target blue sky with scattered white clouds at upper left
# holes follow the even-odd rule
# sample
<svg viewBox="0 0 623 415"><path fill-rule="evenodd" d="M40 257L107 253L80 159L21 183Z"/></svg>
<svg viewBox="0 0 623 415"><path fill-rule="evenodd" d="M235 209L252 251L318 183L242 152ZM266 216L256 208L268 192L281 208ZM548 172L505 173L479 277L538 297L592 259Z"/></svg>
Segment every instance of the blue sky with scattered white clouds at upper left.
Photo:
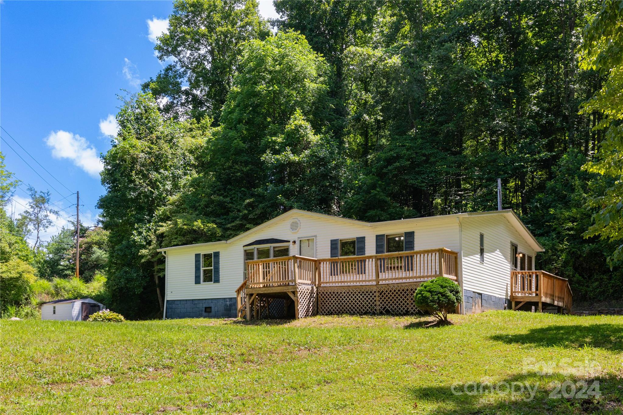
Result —
<svg viewBox="0 0 623 415"><path fill-rule="evenodd" d="M172 9L168 1L0 4L0 151L24 182L7 210L23 210L29 184L50 190L62 210L44 240L75 220L68 195L76 190L81 221L95 222L104 193L98 157L110 149L117 95L138 91L162 68L153 47ZM260 1L260 13L276 17L270 1Z"/></svg>

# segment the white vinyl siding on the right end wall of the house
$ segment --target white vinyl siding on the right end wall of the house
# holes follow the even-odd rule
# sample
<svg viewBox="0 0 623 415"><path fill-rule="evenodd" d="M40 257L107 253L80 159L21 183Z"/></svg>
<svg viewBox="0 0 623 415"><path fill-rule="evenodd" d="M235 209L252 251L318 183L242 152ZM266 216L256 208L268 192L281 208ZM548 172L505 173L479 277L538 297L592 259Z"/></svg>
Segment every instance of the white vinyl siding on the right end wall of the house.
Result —
<svg viewBox="0 0 623 415"><path fill-rule="evenodd" d="M535 251L503 215L461 218L463 239L463 288L508 298L510 294L511 243L520 252ZM485 235L485 261L480 261L480 234Z"/></svg>

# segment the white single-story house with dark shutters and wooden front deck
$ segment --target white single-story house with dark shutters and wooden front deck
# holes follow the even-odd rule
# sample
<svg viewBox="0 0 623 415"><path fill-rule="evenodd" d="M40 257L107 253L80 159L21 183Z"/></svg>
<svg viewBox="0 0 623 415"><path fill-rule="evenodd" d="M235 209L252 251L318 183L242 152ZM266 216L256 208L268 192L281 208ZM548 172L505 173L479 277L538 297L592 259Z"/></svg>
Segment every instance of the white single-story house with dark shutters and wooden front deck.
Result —
<svg viewBox="0 0 623 415"><path fill-rule="evenodd" d="M250 318L277 298L297 317L409 312L414 289L440 275L462 287L462 313L514 308L515 299L534 298L513 297L511 284L515 294L539 294L543 271L514 280L511 271L534 270L544 249L512 210L370 223L293 209L230 240L158 250L166 257L163 318Z"/></svg>

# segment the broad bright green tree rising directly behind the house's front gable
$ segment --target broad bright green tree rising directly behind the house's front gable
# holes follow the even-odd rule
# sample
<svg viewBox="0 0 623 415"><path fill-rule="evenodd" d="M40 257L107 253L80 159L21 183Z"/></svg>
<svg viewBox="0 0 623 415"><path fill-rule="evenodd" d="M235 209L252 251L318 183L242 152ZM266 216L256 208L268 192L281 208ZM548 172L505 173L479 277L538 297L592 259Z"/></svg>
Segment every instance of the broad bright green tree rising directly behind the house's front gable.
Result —
<svg viewBox="0 0 623 415"><path fill-rule="evenodd" d="M247 42L181 213L203 215L225 238L293 207L336 213L341 166L326 134L327 75L301 35Z"/></svg>

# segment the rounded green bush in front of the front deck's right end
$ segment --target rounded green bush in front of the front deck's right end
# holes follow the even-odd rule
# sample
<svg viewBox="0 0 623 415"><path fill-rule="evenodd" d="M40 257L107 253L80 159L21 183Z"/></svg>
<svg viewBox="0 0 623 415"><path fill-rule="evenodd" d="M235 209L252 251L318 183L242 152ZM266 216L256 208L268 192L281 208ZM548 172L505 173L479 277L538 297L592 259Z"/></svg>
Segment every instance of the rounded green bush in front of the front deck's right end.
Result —
<svg viewBox="0 0 623 415"><path fill-rule="evenodd" d="M461 298L459 284L446 277L424 282L414 294L416 307L429 312L442 324L448 323L448 312L456 309Z"/></svg>

